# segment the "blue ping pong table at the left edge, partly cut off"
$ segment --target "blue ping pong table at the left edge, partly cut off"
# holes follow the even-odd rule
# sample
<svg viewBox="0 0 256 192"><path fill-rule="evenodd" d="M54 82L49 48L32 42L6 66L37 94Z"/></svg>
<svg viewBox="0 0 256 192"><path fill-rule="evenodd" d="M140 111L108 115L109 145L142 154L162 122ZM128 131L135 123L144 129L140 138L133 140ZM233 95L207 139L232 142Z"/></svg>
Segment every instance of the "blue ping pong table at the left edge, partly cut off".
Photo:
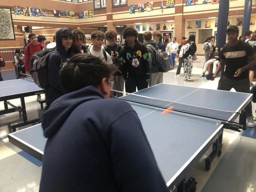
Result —
<svg viewBox="0 0 256 192"><path fill-rule="evenodd" d="M0 115L14 112L22 114L23 122L11 125L12 131L16 131L18 127L38 122L39 118L28 121L24 97L43 93L44 90L29 78L0 81L0 102L4 102L4 110L0 111ZM13 105L8 101L10 99L20 99L21 106ZM8 108L8 105L12 108Z"/></svg>

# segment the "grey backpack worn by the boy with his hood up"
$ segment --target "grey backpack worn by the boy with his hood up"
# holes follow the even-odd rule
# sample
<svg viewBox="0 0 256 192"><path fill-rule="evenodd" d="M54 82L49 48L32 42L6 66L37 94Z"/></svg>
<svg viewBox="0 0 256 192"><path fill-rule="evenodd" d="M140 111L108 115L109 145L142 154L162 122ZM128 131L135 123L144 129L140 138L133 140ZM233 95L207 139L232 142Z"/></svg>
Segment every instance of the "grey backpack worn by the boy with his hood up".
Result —
<svg viewBox="0 0 256 192"><path fill-rule="evenodd" d="M42 89L47 88L48 84L48 70L47 70L47 63L49 55L52 52L58 53L58 55L61 58L60 53L53 49L47 49L43 51L35 52L32 57L34 57L33 65L30 66L30 72L34 79L35 84L38 85L38 87L41 87ZM61 58L61 64L60 68L62 67L62 58Z"/></svg>

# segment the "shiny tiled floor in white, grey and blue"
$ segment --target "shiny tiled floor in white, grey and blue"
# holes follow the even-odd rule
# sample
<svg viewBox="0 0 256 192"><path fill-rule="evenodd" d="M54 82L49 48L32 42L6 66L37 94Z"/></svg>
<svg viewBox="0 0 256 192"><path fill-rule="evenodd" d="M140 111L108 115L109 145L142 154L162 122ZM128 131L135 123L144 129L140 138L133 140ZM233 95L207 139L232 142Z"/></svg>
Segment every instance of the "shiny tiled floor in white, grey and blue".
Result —
<svg viewBox="0 0 256 192"><path fill-rule="evenodd" d="M192 70L194 82L183 80L182 68L180 77L175 75L176 69L164 73L164 83L216 89L219 78L207 81L206 78L199 77L202 73L203 60L203 57L198 56L198 60L194 62ZM14 70L1 72L4 79L14 79ZM35 99L36 96L25 99L28 119L35 118L42 112ZM220 98L212 102L218 102L218 99ZM12 102L19 104L20 101L15 99ZM3 102L0 102L1 109ZM256 104L253 103L253 111L255 109ZM18 121L20 121L18 113L0 116L0 192L37 192L41 162L9 143L7 138L10 131L8 125ZM253 192L256 186L255 138L256 127L247 128L241 133L225 130L221 157L215 158L210 171L205 171L204 158L210 153L211 148L187 176L196 178L197 192Z"/></svg>

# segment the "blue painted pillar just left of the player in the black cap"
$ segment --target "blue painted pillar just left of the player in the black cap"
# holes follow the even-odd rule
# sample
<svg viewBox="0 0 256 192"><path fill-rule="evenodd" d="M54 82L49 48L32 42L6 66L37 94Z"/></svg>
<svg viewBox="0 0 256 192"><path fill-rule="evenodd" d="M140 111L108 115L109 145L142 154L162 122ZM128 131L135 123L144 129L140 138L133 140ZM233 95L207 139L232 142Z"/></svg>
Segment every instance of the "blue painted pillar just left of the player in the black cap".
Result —
<svg viewBox="0 0 256 192"><path fill-rule="evenodd" d="M224 47L224 45L226 44L228 13L229 13L229 0L220 0L216 45L218 45L221 48Z"/></svg>

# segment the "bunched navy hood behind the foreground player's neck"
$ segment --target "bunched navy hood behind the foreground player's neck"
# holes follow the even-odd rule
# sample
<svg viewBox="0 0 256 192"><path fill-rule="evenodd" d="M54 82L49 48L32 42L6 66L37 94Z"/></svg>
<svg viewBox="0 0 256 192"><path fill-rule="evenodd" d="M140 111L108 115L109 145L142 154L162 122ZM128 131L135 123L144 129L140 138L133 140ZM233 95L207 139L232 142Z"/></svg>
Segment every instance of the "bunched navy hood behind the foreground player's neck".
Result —
<svg viewBox="0 0 256 192"><path fill-rule="evenodd" d="M44 137L52 137L76 107L93 99L104 99L104 97L96 87L90 85L67 93L52 102L49 109L42 115Z"/></svg>

